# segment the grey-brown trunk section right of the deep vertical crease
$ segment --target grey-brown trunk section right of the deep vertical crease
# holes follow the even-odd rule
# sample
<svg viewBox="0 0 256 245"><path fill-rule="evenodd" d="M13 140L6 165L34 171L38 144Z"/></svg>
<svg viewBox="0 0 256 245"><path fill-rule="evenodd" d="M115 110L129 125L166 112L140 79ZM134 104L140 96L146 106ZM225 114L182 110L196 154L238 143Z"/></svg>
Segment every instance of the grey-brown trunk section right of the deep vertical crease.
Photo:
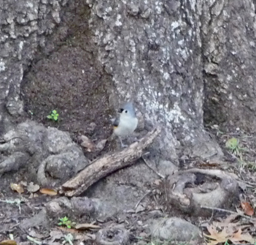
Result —
<svg viewBox="0 0 256 245"><path fill-rule="evenodd" d="M202 2L205 121L255 132L255 1Z"/></svg>

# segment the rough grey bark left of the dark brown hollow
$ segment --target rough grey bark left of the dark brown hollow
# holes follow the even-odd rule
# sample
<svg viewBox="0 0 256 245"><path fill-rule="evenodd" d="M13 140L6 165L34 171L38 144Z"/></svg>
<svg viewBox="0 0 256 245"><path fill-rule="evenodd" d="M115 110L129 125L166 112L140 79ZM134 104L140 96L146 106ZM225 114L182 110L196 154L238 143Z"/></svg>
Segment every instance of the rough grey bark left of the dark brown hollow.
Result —
<svg viewBox="0 0 256 245"><path fill-rule="evenodd" d="M0 1L0 132L12 127L8 115L21 115L20 84L45 37L60 23L66 0ZM7 114L7 112L9 114Z"/></svg>

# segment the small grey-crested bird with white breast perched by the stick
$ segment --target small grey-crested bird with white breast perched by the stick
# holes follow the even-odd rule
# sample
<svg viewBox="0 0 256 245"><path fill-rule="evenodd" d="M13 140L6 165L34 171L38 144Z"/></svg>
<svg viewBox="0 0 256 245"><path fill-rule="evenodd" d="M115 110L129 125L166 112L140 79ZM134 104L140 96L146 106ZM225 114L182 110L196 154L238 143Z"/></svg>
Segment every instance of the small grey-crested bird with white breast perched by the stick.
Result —
<svg viewBox="0 0 256 245"><path fill-rule="evenodd" d="M118 109L117 112L120 114L116 119L112 120L114 125L113 134L119 137L121 146L126 147L126 145L123 145L121 137L125 137L133 133L138 125L138 119L136 118L133 104L131 104L131 102L123 105L123 107Z"/></svg>

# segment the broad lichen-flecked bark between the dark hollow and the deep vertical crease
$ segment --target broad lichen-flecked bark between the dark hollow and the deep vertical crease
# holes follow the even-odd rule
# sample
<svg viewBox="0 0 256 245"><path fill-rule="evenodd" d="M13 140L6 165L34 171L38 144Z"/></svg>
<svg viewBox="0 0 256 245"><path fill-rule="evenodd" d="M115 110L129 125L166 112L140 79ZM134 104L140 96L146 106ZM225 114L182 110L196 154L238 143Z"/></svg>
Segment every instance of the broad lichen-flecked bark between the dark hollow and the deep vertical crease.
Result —
<svg viewBox="0 0 256 245"><path fill-rule="evenodd" d="M136 100L145 119L164 128L161 155L176 156L179 143L192 146L190 154L216 154L203 127L201 3L87 2L99 60L118 96Z"/></svg>

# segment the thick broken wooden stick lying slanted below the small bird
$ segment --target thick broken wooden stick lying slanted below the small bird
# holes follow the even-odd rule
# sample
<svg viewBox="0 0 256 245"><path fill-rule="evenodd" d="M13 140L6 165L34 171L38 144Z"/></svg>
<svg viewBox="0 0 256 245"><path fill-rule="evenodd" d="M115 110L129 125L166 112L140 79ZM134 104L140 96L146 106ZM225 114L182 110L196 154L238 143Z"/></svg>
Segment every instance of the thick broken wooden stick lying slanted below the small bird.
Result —
<svg viewBox="0 0 256 245"><path fill-rule="evenodd" d="M153 129L139 142L131 144L123 151L95 160L74 178L64 183L61 187L61 192L68 197L77 196L99 179L118 169L134 164L134 161L142 156L143 150L153 142L159 133L160 128Z"/></svg>

